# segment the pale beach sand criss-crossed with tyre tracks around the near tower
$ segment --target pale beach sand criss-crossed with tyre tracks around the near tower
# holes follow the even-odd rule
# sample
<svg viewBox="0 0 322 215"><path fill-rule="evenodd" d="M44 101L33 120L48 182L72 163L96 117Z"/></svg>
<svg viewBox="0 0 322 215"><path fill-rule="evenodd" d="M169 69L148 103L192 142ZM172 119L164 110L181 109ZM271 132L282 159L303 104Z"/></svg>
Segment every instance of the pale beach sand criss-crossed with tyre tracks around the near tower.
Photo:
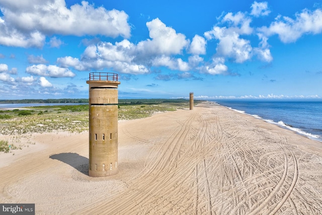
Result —
<svg viewBox="0 0 322 215"><path fill-rule="evenodd" d="M322 143L222 106L120 122L106 178L88 176L88 133L30 138L0 154L0 202L36 214L322 213Z"/></svg>

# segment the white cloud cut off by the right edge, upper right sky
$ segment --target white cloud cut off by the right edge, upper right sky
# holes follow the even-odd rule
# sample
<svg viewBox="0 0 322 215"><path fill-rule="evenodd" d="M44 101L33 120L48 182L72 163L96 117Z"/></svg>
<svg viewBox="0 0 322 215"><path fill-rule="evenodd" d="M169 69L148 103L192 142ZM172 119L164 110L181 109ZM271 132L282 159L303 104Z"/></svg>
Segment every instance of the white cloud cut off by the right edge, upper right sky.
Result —
<svg viewBox="0 0 322 215"><path fill-rule="evenodd" d="M269 27L259 28L265 36L277 34L283 43L295 42L303 34L318 34L322 32L322 11L304 9L295 14L295 19L278 16Z"/></svg>

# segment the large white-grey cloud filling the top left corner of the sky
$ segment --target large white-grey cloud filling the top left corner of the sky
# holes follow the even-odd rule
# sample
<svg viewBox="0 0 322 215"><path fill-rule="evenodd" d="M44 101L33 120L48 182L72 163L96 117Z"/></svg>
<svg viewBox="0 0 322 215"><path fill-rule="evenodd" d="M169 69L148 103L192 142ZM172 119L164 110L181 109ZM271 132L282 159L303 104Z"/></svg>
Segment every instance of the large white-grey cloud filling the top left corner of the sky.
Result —
<svg viewBox="0 0 322 215"><path fill-rule="evenodd" d="M95 8L86 1L68 9L64 0L3 0L1 12L0 44L7 46L42 47L45 35L52 34L130 37L124 11ZM57 47L59 41L50 44Z"/></svg>

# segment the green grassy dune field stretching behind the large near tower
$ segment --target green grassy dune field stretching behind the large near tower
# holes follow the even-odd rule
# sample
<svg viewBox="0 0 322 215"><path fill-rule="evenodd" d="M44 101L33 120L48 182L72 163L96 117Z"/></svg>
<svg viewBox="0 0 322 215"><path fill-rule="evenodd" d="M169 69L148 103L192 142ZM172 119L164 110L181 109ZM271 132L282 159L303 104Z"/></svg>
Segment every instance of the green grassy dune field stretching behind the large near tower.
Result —
<svg viewBox="0 0 322 215"><path fill-rule="evenodd" d="M145 118L158 112L183 108L189 108L189 100L125 100L118 105L118 118ZM3 135L59 131L81 133L88 131L88 123L88 104L37 106L0 111L0 134Z"/></svg>

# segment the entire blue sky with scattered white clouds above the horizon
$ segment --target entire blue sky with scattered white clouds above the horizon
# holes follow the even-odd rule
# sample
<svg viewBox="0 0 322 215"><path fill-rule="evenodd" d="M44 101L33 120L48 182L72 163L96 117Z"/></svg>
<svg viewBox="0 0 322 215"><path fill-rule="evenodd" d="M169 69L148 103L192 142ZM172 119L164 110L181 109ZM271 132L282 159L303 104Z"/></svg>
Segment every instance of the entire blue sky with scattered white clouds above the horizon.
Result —
<svg viewBox="0 0 322 215"><path fill-rule="evenodd" d="M322 98L322 1L0 0L0 99Z"/></svg>

